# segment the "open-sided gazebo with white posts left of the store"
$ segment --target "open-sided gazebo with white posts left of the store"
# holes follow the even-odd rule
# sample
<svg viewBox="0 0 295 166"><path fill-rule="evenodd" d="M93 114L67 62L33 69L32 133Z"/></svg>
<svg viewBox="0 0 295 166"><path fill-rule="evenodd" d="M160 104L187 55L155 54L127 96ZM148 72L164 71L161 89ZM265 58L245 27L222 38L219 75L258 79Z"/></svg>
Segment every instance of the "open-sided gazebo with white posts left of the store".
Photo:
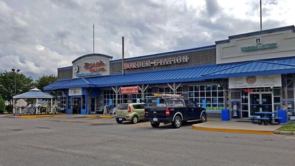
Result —
<svg viewBox="0 0 295 166"><path fill-rule="evenodd" d="M50 105L50 112L53 113L53 99L55 99L54 95L50 95L48 93L45 93L43 91L41 91L40 89L31 89L30 91L26 92L26 93L21 93L19 95L15 95L12 97L13 98L13 114L16 113L16 105L15 105L15 101L19 100L19 99L32 99L35 100L35 108L23 108L23 112L21 110L21 107L19 107L19 114L21 113L38 113L38 100L39 99L47 99L47 101L49 102L49 100L51 100L51 105ZM56 104L56 99L55 99L55 104Z"/></svg>

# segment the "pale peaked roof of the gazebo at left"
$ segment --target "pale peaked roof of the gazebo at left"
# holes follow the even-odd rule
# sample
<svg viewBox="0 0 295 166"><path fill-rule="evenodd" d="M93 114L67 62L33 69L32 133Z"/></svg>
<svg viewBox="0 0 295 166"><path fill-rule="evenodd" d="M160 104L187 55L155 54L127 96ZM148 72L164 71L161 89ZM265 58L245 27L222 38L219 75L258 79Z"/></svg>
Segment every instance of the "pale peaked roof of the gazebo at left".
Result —
<svg viewBox="0 0 295 166"><path fill-rule="evenodd" d="M42 92L39 89L31 89L26 93L21 93L20 95L15 95L12 98L14 99L52 99L55 96L50 95L48 93Z"/></svg>

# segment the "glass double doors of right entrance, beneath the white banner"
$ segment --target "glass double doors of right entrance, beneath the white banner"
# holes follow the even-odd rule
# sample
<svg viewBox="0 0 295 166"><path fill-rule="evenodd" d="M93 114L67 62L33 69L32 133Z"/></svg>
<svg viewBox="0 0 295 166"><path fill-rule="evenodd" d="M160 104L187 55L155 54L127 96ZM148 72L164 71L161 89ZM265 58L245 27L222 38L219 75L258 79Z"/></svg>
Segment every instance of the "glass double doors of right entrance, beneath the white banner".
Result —
<svg viewBox="0 0 295 166"><path fill-rule="evenodd" d="M257 116L255 112L272 112L274 110L273 93L249 93L249 116Z"/></svg>

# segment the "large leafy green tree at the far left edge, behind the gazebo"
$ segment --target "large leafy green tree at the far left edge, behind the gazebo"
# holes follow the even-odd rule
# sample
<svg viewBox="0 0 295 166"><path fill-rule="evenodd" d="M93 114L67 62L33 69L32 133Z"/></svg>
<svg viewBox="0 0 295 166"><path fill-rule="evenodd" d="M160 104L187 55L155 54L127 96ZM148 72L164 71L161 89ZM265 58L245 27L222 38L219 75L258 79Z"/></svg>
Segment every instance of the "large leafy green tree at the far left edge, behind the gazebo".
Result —
<svg viewBox="0 0 295 166"><path fill-rule="evenodd" d="M0 94L2 98L10 102L10 104L13 95L24 93L30 89L33 89L33 79L31 77L26 77L24 73L13 71L0 73Z"/></svg>

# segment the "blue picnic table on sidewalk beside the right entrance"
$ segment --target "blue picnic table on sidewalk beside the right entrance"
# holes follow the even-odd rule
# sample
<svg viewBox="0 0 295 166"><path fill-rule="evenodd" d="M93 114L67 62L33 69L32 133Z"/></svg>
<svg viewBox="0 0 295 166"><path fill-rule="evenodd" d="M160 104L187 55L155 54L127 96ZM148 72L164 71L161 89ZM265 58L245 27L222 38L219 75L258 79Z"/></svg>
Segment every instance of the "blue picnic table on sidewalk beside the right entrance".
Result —
<svg viewBox="0 0 295 166"><path fill-rule="evenodd" d="M275 117L273 115L276 114L276 112L255 112L256 115L258 116L252 116L251 117L251 122L254 123L255 120L258 120L258 124L262 124L262 122L267 125L267 124L273 124L273 119L275 122L278 122L278 124L280 124L280 119L278 117Z"/></svg>

